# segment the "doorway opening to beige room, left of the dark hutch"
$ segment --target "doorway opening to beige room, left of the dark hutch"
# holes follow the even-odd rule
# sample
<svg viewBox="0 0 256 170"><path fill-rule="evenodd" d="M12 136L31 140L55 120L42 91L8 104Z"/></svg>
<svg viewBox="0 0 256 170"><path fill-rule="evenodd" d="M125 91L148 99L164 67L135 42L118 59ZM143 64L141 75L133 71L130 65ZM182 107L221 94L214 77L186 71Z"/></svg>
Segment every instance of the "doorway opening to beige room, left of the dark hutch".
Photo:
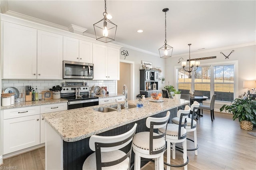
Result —
<svg viewBox="0 0 256 170"><path fill-rule="evenodd" d="M117 81L117 93L123 93L124 84L127 85L128 100L134 100L134 61L120 59L120 80Z"/></svg>

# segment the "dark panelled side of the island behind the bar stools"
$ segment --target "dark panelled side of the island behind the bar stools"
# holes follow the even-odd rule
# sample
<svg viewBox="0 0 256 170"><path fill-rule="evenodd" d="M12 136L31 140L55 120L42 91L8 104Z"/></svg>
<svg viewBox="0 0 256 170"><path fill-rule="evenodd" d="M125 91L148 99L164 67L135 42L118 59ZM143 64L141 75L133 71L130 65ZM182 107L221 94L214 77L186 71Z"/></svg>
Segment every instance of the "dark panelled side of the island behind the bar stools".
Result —
<svg viewBox="0 0 256 170"><path fill-rule="evenodd" d="M158 113L152 117L164 117L166 116L167 111ZM169 123L171 122L173 117L177 115L177 108L170 110L170 119ZM139 121L128 123L127 125L123 125L118 128L114 128L112 130L108 130L106 132L97 134L100 136L114 136L118 134L122 134L130 130L134 123L137 123L136 133L149 131L149 128L146 127L146 118L141 119ZM157 132L157 131L156 131ZM84 164L84 160L93 153L93 151L89 148L89 139L85 138L82 140L78 140L76 142L65 142L63 141L63 169L64 170L81 170ZM129 148L125 148L129 150ZM134 153L132 152L131 164L134 163ZM146 164L146 162L142 162L142 164Z"/></svg>

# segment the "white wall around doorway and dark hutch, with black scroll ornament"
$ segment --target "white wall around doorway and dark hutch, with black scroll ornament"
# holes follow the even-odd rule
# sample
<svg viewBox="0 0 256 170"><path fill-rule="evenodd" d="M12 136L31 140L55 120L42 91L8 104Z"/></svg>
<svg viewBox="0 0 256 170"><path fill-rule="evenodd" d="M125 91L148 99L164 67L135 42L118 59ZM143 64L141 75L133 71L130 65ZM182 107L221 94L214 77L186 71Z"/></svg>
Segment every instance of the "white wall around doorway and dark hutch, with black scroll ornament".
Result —
<svg viewBox="0 0 256 170"><path fill-rule="evenodd" d="M126 50L128 51L129 55L126 57L125 60L128 61L134 61L134 95L140 94L140 64L141 61L149 61L152 62L152 64L155 67L161 67L163 71L163 76L165 76L165 62L166 59L160 58L160 56L154 56L147 53L142 53L140 51L136 51L134 49L129 49L126 47L122 47L120 51ZM120 55L120 59L124 59L124 55ZM161 83L161 81L158 82L158 89L163 89L165 84Z"/></svg>

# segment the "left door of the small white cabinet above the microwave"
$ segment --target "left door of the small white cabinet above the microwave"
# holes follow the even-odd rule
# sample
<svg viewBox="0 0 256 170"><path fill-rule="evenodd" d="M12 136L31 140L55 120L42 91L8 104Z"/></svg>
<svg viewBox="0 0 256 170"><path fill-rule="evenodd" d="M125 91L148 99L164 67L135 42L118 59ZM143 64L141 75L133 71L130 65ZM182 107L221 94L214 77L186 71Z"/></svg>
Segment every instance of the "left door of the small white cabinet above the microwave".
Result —
<svg viewBox="0 0 256 170"><path fill-rule="evenodd" d="M79 40L63 37L63 60L79 61Z"/></svg>

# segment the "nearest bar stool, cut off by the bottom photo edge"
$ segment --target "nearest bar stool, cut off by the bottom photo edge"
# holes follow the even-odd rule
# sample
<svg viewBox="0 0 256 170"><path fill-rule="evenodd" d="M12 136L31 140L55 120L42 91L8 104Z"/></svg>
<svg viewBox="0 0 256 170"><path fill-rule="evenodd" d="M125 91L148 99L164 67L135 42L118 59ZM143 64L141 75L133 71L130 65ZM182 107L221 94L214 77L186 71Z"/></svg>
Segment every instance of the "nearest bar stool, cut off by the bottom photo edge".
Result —
<svg viewBox="0 0 256 170"><path fill-rule="evenodd" d="M89 140L90 149L95 151L83 164L83 170L128 170L132 152L132 139L136 132L137 123L124 134L117 136L92 135ZM119 149L130 144L130 150L125 153Z"/></svg>

